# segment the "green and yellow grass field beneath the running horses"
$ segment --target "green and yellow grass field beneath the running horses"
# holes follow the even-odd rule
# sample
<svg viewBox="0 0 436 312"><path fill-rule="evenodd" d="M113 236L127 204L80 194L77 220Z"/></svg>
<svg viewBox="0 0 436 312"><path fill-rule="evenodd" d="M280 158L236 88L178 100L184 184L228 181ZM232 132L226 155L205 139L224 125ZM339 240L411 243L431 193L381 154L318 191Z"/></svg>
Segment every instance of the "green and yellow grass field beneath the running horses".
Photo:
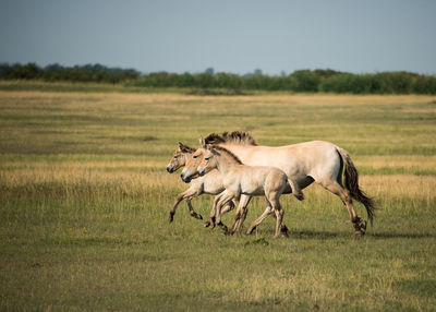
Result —
<svg viewBox="0 0 436 312"><path fill-rule="evenodd" d="M0 83L1 311L436 310L436 97L57 87ZM165 171L177 142L228 130L346 148L374 226L355 239L315 184L282 199L289 238L272 218L227 237L185 204L168 224L186 188ZM193 205L207 216L211 201Z"/></svg>

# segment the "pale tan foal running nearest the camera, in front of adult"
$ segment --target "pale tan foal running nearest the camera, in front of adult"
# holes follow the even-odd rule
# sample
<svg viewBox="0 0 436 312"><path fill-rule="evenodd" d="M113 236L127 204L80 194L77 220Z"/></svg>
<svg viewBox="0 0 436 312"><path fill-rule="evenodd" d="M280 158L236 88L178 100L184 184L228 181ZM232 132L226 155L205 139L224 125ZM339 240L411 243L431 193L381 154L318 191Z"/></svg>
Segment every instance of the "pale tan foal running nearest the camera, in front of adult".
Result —
<svg viewBox="0 0 436 312"><path fill-rule="evenodd" d="M256 219L250 227L247 233L259 225L271 212L276 216L276 233L278 237L282 227L283 209L281 208L279 197L288 185L291 185L293 194L299 200L303 199L303 193L295 188L293 181L289 181L287 175L278 168L265 166L245 166L231 152L222 147L213 147L207 145L203 137L201 139L201 147L193 154L194 157L203 155L197 167L197 172L201 176L207 176L213 169L218 171L223 177L223 185L226 191L217 203L216 221L225 231L227 227L221 223L221 207L231 200L241 197L242 194L250 196L265 196L267 201L267 209ZM238 207L240 213L241 207ZM232 230L234 230L238 217L233 220Z"/></svg>

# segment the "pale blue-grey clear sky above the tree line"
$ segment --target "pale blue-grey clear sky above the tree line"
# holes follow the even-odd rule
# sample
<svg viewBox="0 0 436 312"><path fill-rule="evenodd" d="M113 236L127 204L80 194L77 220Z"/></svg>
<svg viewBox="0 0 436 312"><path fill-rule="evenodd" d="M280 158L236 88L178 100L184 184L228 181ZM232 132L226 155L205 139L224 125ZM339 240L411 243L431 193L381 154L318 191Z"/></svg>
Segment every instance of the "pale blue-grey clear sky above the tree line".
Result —
<svg viewBox="0 0 436 312"><path fill-rule="evenodd" d="M0 0L0 62L436 74L436 1Z"/></svg>

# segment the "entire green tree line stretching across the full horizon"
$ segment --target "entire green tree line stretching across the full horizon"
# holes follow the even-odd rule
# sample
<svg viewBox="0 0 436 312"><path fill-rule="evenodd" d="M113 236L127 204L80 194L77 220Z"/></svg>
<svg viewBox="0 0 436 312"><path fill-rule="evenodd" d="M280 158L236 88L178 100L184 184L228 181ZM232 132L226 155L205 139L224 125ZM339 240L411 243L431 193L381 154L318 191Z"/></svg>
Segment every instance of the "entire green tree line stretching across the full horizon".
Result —
<svg viewBox="0 0 436 312"><path fill-rule="evenodd" d="M288 91L304 93L349 94L436 94L436 76L411 72L353 74L334 70L300 70L291 74L266 75L261 70L252 74L156 72L141 74L132 69L107 68L100 64L40 68L35 63L0 64L2 80L44 80L71 82L126 83L137 87L182 87L233 91Z"/></svg>

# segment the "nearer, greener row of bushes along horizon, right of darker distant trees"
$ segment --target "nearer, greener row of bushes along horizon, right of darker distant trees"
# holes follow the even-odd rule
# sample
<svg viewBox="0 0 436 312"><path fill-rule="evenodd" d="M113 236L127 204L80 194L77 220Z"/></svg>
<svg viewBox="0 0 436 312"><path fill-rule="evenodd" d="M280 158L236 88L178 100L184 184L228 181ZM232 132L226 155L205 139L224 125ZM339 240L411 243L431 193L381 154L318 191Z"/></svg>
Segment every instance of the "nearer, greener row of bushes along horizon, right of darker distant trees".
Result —
<svg viewBox="0 0 436 312"><path fill-rule="evenodd" d="M144 75L130 85L296 93L436 94L436 76L433 75L410 72L352 74L334 70L301 70L289 75L158 72Z"/></svg>

